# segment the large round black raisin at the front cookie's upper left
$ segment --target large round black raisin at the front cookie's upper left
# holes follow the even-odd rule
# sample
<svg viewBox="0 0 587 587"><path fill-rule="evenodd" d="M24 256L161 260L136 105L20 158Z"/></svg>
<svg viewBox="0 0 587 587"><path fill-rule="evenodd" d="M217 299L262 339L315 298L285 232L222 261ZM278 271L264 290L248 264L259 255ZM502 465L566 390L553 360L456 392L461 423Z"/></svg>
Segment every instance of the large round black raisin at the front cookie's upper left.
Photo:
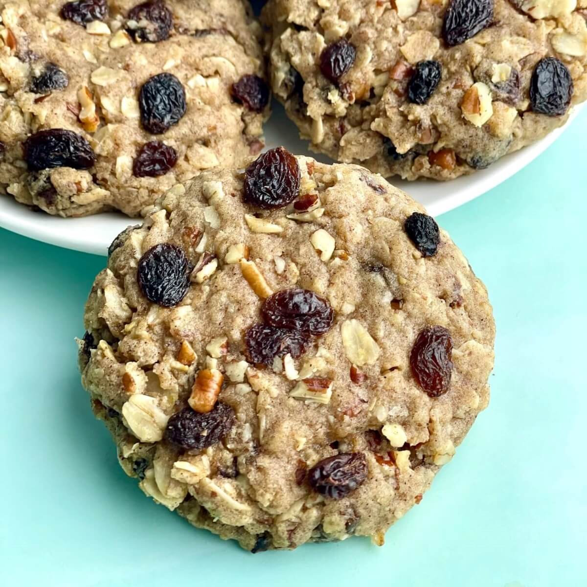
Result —
<svg viewBox="0 0 587 587"><path fill-rule="evenodd" d="M191 265L185 253L168 242L155 245L140 258L137 281L151 302L176 306L190 289Z"/></svg>

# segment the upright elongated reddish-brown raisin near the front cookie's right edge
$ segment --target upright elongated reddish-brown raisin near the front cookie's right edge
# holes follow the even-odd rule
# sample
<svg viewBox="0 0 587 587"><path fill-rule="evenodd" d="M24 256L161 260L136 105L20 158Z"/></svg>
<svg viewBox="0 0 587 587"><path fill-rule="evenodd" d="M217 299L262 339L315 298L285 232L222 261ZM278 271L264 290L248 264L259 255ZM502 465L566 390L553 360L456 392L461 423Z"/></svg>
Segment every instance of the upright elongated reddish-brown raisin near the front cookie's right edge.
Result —
<svg viewBox="0 0 587 587"><path fill-rule="evenodd" d="M419 386L430 396L448 391L453 370L453 339L443 326L424 328L410 353L411 372Z"/></svg>

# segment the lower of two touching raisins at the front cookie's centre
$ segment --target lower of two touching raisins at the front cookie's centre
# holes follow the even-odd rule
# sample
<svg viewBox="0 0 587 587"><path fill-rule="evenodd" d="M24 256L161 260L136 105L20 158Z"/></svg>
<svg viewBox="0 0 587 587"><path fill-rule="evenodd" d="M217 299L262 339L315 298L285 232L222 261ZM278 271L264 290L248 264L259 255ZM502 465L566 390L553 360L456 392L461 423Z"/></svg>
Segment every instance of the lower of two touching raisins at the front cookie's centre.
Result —
<svg viewBox="0 0 587 587"><path fill-rule="evenodd" d="M245 345L251 363L273 365L275 357L288 353L297 359L308 347L310 337L305 332L257 324L247 330Z"/></svg>

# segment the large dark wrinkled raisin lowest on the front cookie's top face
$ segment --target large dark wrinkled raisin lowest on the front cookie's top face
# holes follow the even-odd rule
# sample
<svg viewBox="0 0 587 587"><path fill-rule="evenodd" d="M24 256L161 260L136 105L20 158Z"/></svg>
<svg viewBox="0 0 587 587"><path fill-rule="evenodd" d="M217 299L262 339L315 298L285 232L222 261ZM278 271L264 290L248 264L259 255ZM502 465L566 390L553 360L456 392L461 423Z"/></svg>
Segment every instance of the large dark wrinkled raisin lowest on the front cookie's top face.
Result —
<svg viewBox="0 0 587 587"><path fill-rule="evenodd" d="M355 491L367 478L363 453L340 453L324 458L308 471L308 481L319 494L339 500Z"/></svg>

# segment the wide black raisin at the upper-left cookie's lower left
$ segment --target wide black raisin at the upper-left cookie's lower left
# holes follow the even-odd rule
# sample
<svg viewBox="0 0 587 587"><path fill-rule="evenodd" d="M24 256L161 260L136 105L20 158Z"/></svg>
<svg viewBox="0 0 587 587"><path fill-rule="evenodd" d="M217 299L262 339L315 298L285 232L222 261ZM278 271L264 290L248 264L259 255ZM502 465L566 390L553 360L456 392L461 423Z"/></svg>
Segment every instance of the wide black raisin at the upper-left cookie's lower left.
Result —
<svg viewBox="0 0 587 587"><path fill-rule="evenodd" d="M23 143L29 169L41 171L55 167L89 169L96 163L90 143L65 129L40 130Z"/></svg>

